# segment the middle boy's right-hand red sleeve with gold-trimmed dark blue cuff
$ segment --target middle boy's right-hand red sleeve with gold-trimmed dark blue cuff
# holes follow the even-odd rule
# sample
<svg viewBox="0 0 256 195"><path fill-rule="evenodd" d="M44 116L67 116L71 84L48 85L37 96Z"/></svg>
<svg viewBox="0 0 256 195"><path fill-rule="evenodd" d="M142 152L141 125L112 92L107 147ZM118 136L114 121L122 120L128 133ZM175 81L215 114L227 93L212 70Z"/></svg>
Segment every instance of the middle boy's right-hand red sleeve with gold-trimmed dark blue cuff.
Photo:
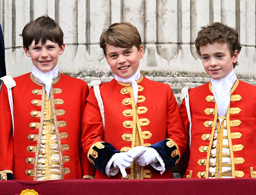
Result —
<svg viewBox="0 0 256 195"><path fill-rule="evenodd" d="M158 151L164 160L166 171L180 161L188 143L177 101L169 84L167 84L167 87L167 139L149 146Z"/></svg>

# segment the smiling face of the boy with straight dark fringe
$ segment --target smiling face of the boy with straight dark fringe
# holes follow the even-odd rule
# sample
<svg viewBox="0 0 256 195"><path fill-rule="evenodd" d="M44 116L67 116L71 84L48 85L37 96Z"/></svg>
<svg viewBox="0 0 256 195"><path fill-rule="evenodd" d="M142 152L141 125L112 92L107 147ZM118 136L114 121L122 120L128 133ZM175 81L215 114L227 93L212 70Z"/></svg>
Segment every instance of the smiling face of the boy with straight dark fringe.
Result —
<svg viewBox="0 0 256 195"><path fill-rule="evenodd" d="M59 47L58 43L54 43L50 40L46 41L46 44L42 45L41 40L35 45L33 40L29 49L27 50L23 46L25 54L31 57L33 65L43 72L51 71L58 63L59 55L62 55L65 49L65 44Z"/></svg>

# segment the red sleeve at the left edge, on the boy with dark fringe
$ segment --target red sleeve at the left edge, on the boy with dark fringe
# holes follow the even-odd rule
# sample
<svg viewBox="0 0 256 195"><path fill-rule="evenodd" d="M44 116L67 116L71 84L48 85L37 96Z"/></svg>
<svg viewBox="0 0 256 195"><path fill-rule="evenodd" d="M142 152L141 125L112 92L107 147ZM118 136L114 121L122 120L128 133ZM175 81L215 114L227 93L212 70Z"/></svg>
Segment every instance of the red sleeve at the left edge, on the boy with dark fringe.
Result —
<svg viewBox="0 0 256 195"><path fill-rule="evenodd" d="M7 88L0 91L0 180L14 179L12 119Z"/></svg>

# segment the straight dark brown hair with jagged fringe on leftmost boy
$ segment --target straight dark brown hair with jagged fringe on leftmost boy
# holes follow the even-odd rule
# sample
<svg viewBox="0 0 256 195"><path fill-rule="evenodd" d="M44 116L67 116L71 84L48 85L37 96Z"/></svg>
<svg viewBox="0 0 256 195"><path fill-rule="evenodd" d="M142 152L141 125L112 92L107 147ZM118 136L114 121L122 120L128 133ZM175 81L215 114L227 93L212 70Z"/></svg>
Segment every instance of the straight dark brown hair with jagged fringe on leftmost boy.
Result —
<svg viewBox="0 0 256 195"><path fill-rule="evenodd" d="M58 43L59 47L63 44L63 32L60 26L48 15L38 17L36 20L28 22L20 34L23 38L23 45L29 49L32 41L35 44L41 40L44 45L47 40Z"/></svg>

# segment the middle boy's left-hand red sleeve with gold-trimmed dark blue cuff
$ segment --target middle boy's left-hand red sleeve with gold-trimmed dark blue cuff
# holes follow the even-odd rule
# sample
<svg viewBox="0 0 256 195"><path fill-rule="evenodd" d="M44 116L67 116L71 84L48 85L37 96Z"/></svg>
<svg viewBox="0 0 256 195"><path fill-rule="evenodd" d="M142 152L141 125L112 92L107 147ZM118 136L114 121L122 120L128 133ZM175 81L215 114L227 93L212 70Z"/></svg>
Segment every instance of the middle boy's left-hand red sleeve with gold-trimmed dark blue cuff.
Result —
<svg viewBox="0 0 256 195"><path fill-rule="evenodd" d="M87 158L105 176L105 167L110 158L120 152L110 143L104 142L104 129L100 108L91 88L87 97L85 113L82 120L82 146Z"/></svg>

